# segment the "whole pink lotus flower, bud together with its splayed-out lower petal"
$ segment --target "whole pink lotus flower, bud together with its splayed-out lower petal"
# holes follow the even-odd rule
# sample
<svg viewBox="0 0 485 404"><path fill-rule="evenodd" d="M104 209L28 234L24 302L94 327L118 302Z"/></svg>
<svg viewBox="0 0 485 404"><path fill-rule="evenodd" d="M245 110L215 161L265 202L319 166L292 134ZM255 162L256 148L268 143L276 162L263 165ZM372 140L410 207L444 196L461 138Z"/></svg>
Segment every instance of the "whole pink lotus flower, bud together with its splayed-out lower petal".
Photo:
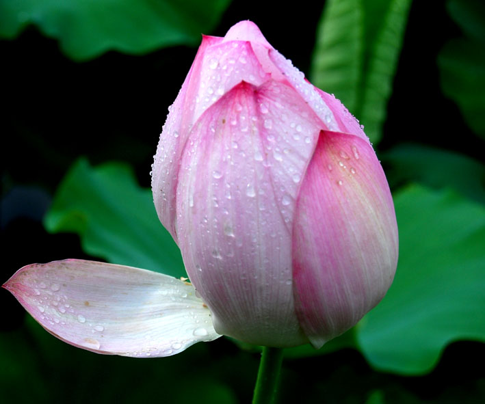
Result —
<svg viewBox="0 0 485 404"><path fill-rule="evenodd" d="M153 358L221 334L321 347L393 280L397 224L369 140L249 21L203 38L152 187L192 284L63 260L27 265L3 287L71 345Z"/></svg>

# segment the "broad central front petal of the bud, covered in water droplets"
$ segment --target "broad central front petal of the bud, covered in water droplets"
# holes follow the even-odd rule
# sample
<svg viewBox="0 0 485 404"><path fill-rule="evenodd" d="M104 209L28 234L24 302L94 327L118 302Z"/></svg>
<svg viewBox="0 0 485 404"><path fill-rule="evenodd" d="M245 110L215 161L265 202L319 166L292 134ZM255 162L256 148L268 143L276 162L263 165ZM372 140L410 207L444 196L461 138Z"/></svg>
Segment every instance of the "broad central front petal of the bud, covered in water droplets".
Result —
<svg viewBox="0 0 485 404"><path fill-rule="evenodd" d="M184 150L177 233L221 334L307 342L291 286L291 228L319 118L292 87L242 82L202 114Z"/></svg>

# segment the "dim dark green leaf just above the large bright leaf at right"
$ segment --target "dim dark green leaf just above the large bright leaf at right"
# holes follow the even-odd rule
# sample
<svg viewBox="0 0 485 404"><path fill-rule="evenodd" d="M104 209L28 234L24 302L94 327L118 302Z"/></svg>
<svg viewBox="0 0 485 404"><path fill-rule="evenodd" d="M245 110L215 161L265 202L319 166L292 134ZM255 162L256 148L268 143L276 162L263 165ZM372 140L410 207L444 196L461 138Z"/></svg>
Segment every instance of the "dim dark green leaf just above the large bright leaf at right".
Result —
<svg viewBox="0 0 485 404"><path fill-rule="evenodd" d="M485 165L471 157L419 144L402 144L380 154L391 188L417 182L452 187L485 204Z"/></svg>

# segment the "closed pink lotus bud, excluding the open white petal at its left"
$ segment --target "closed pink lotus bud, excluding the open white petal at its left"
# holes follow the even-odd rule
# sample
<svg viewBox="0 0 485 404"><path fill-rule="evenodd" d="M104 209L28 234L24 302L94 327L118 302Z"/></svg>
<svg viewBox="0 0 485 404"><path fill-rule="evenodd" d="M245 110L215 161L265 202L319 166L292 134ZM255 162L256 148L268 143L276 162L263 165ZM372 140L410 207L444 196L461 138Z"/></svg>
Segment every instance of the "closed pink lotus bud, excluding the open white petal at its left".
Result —
<svg viewBox="0 0 485 404"><path fill-rule="evenodd" d="M367 136L250 21L203 37L152 175L218 334L321 347L391 285L397 224Z"/></svg>

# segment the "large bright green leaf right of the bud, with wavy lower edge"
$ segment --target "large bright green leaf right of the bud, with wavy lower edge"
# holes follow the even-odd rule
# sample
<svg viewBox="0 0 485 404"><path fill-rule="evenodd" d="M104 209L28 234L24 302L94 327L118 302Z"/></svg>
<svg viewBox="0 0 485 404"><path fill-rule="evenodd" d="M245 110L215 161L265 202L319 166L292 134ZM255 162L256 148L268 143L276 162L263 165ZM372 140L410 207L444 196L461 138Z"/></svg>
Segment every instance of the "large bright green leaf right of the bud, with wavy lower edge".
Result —
<svg viewBox="0 0 485 404"><path fill-rule="evenodd" d="M485 208L412 186L395 198L399 264L386 297L356 327L369 363L427 373L449 342L485 342Z"/></svg>

